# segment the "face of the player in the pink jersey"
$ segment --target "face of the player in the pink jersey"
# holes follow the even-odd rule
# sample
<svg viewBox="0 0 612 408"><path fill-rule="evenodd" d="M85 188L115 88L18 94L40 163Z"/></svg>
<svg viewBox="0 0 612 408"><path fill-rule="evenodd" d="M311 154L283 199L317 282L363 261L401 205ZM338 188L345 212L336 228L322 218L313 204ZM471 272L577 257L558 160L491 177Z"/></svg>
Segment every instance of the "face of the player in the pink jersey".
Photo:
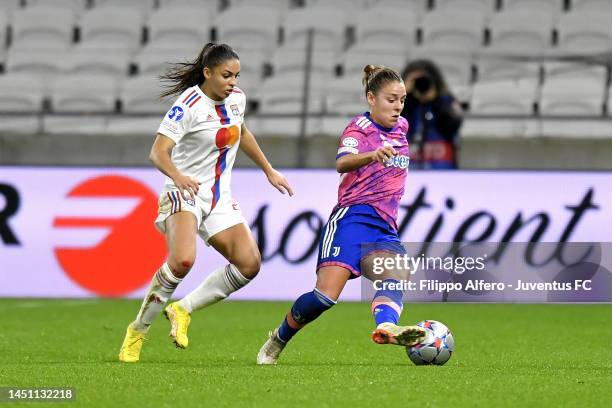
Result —
<svg viewBox="0 0 612 408"><path fill-rule="evenodd" d="M399 120L405 99L406 88L404 84L396 81L388 82L376 95L368 92L370 114L376 123L392 128Z"/></svg>

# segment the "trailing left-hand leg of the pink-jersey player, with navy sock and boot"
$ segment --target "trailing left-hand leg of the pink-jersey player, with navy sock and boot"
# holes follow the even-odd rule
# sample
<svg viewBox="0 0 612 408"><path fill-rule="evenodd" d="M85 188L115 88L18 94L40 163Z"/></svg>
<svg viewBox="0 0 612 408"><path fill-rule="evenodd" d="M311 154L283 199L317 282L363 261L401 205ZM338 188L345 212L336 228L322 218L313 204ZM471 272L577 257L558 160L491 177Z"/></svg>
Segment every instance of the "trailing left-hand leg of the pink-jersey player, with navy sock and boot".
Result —
<svg viewBox="0 0 612 408"><path fill-rule="evenodd" d="M320 268L315 288L297 298L281 325L270 332L268 340L257 354L257 364L276 364L289 340L337 303L350 276L351 272L341 266Z"/></svg>

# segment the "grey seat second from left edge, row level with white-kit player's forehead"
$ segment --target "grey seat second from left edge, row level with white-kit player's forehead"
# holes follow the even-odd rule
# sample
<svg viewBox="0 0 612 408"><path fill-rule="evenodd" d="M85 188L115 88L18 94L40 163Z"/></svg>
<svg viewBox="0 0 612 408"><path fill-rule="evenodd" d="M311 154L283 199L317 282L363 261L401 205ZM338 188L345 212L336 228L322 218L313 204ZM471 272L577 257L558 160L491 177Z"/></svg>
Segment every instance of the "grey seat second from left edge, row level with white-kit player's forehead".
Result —
<svg viewBox="0 0 612 408"><path fill-rule="evenodd" d="M117 51L101 53L74 47L69 56L68 70L72 73L90 73L123 78L129 74L130 55Z"/></svg>

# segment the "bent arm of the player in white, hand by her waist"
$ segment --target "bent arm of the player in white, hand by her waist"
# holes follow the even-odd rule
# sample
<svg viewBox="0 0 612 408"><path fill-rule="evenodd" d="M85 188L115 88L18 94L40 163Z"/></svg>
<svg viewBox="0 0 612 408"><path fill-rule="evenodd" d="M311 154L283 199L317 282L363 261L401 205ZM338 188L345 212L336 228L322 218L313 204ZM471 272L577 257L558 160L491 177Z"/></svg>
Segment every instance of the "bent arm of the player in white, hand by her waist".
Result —
<svg viewBox="0 0 612 408"><path fill-rule="evenodd" d="M151 147L149 160L159 171L172 179L183 194L184 199L189 197L194 199L195 194L197 194L200 188L200 183L191 177L183 175L172 163L172 149L175 144L174 140L168 136L158 133L155 142L153 142L153 147Z"/></svg>

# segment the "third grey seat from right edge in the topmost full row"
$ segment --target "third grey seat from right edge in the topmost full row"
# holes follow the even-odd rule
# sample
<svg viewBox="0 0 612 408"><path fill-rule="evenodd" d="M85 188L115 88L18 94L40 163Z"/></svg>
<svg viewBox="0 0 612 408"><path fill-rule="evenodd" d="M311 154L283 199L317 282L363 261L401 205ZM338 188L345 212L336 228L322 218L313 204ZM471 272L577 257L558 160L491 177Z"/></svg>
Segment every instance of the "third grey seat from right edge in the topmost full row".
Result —
<svg viewBox="0 0 612 408"><path fill-rule="evenodd" d="M483 43L484 16L457 10L427 13L421 23L422 46L428 50L470 53Z"/></svg>

